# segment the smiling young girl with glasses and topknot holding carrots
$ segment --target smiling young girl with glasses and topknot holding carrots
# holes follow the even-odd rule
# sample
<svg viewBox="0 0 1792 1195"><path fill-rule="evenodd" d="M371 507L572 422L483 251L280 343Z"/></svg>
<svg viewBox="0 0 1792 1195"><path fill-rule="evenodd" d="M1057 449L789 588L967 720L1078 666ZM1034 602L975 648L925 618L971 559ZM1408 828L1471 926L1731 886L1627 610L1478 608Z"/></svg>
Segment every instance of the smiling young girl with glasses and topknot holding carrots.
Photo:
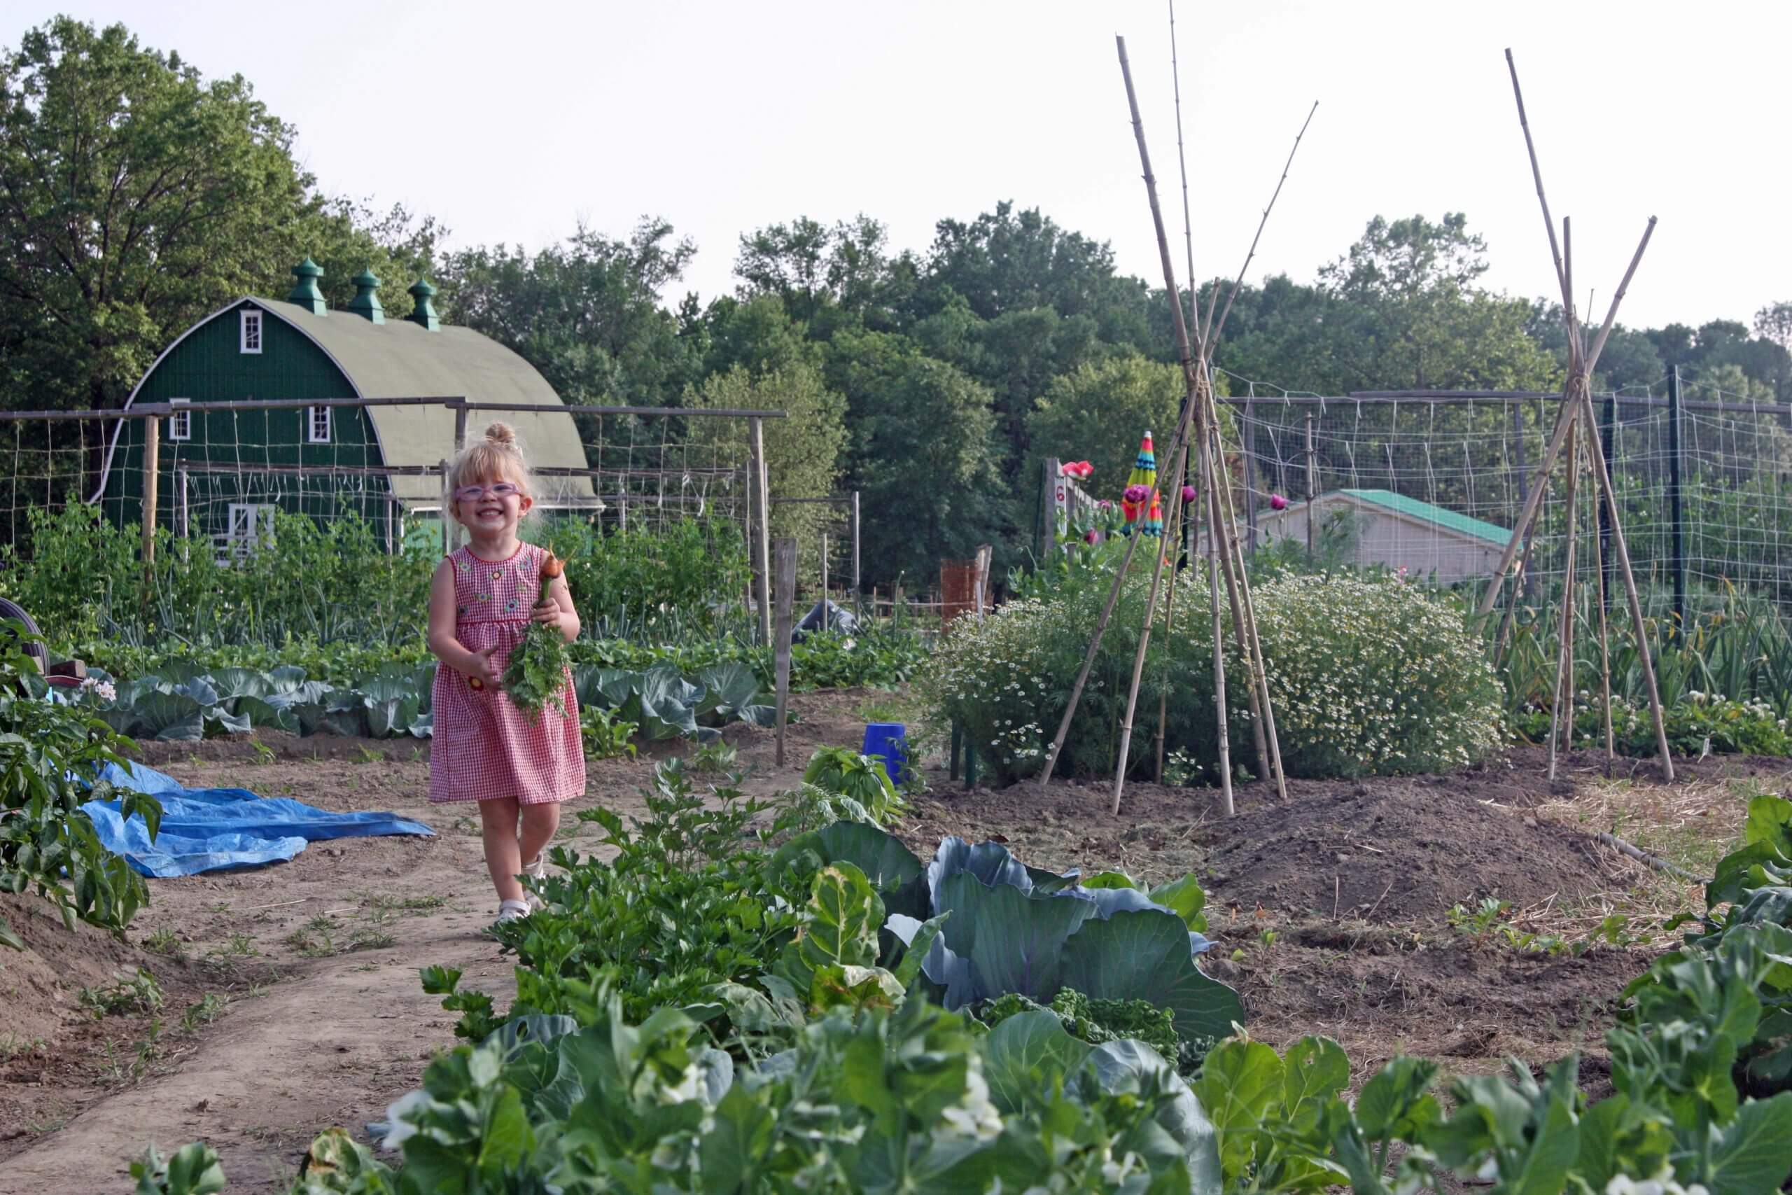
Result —
<svg viewBox="0 0 1792 1195"><path fill-rule="evenodd" d="M498 889L498 921L527 917L520 876L547 876L547 844L559 803L584 792L579 706L566 677L566 713L550 701L541 720L511 704L500 677L529 622L579 636L566 580L541 586L545 548L521 543L516 525L534 505L516 434L502 423L468 444L450 468L448 514L470 543L448 555L430 586L435 736L430 801L478 801L486 867ZM521 830L518 830L521 813Z"/></svg>

